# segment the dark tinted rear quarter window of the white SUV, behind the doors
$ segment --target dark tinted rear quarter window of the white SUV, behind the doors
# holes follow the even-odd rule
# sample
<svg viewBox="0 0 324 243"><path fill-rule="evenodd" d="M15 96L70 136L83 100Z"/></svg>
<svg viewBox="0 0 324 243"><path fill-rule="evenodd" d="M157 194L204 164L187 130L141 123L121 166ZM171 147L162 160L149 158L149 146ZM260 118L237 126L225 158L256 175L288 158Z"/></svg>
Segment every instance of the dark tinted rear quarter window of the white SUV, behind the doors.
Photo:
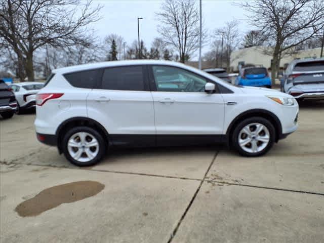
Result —
<svg viewBox="0 0 324 243"><path fill-rule="evenodd" d="M63 74L67 82L76 88L93 89L97 85L100 69Z"/></svg>

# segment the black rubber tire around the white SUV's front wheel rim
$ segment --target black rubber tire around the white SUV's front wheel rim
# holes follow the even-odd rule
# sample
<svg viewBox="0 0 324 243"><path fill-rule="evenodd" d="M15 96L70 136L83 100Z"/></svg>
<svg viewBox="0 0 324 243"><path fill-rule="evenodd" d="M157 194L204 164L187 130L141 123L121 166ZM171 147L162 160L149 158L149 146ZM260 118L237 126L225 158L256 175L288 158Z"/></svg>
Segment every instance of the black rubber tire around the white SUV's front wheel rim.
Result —
<svg viewBox="0 0 324 243"><path fill-rule="evenodd" d="M244 149L242 149L239 144L238 144L238 135L240 133L240 131L247 125L252 124L252 123L260 123L263 126L265 126L268 131L269 131L269 142L268 145L262 149L259 152L247 152ZM263 154L265 154L266 152L268 152L270 150L270 148L273 146L273 143L275 141L275 129L273 127L273 125L270 123L269 120L262 118L262 117L251 117L251 118L247 118L245 120L242 120L234 129L233 133L232 133L232 137L231 137L231 144L233 145L234 149L241 155L243 156L247 156L247 157L256 157L256 156L261 156Z"/></svg>

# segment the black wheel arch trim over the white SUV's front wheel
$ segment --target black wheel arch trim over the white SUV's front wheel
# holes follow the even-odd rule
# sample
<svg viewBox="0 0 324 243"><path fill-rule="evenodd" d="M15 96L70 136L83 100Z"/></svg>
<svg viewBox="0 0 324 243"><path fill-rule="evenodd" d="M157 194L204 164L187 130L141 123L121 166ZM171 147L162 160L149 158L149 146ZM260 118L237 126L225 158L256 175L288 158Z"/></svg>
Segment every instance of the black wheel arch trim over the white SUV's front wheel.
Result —
<svg viewBox="0 0 324 243"><path fill-rule="evenodd" d="M278 142L282 134L282 126L279 118L268 110L251 109L240 113L232 120L232 122L230 123L230 125L226 130L227 144L230 144L231 136L234 131L235 125L240 123L242 120L253 116L263 117L270 121L270 123L273 125L275 129L275 142Z"/></svg>

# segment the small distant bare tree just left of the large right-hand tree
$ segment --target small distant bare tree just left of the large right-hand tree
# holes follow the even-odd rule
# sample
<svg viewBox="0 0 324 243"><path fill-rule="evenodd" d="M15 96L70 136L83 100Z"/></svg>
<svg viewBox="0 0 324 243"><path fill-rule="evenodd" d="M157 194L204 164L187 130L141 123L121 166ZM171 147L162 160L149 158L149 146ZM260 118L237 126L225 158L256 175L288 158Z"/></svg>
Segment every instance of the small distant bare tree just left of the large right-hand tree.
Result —
<svg viewBox="0 0 324 243"><path fill-rule="evenodd" d="M231 53L238 47L240 43L238 21L236 20L228 21L225 23L225 26L223 28L215 29L214 37L217 41L218 48L219 48L219 44L223 42L223 53L222 50L220 50L220 52L222 57L225 57L226 68L229 70ZM223 60L224 59L222 58L222 62ZM223 63L220 63L220 66L223 66Z"/></svg>

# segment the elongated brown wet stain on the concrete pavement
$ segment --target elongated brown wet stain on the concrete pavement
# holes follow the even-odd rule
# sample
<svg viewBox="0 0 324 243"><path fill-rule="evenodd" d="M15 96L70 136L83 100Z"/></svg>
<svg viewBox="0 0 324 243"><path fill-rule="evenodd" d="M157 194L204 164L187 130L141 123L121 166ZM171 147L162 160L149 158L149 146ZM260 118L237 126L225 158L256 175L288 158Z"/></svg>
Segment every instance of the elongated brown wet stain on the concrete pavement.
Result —
<svg viewBox="0 0 324 243"><path fill-rule="evenodd" d="M53 186L23 201L15 211L21 217L39 215L61 204L73 203L98 194L105 185L96 181L76 181Z"/></svg>

